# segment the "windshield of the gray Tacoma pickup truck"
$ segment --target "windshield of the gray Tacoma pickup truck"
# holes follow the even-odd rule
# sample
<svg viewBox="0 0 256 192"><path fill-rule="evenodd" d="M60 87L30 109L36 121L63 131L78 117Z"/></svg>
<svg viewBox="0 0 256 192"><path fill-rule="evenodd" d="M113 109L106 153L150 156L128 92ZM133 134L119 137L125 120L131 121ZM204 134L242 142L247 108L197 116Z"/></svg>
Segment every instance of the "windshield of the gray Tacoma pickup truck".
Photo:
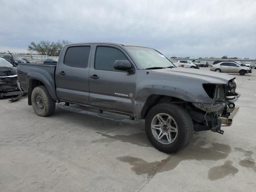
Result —
<svg viewBox="0 0 256 192"><path fill-rule="evenodd" d="M164 55L154 49L134 46L127 46L126 49L132 54L143 69L176 67Z"/></svg>

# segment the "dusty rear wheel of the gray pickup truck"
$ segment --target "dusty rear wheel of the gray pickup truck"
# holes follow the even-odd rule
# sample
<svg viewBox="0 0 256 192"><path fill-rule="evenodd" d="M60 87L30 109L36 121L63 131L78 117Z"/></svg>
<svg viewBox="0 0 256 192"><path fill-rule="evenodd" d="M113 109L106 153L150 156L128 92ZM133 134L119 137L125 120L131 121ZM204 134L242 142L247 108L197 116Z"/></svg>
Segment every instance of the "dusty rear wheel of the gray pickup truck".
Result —
<svg viewBox="0 0 256 192"><path fill-rule="evenodd" d="M32 107L41 117L51 116L55 110L55 101L51 98L45 86L37 86L31 94Z"/></svg>

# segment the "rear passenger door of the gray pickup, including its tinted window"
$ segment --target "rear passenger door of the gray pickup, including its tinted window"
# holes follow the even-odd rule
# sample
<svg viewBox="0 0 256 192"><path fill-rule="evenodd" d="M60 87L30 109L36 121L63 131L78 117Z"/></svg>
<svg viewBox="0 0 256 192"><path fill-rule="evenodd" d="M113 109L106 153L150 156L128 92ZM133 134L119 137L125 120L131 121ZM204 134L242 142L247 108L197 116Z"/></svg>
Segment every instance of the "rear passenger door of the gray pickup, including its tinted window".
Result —
<svg viewBox="0 0 256 192"><path fill-rule="evenodd" d="M89 63L92 46L68 46L62 51L56 69L56 90L62 101L88 104Z"/></svg>

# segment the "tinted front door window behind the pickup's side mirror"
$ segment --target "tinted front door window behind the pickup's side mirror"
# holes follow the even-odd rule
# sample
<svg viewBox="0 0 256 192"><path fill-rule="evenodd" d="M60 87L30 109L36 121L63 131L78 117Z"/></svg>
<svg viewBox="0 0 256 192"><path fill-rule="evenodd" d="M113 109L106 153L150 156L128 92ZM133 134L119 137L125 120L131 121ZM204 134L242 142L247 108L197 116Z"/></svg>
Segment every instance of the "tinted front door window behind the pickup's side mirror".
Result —
<svg viewBox="0 0 256 192"><path fill-rule="evenodd" d="M97 47L94 68L106 71L118 71L114 69L116 60L128 60L118 49L112 47Z"/></svg>

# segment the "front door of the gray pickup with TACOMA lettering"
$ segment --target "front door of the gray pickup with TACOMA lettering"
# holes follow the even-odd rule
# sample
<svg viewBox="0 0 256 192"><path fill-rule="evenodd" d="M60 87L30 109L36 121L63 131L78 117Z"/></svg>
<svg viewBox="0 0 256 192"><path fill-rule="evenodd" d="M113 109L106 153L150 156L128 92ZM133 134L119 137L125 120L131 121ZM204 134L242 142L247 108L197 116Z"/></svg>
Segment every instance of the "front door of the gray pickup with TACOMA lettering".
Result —
<svg viewBox="0 0 256 192"><path fill-rule="evenodd" d="M97 45L94 50L89 71L90 105L102 110L132 114L136 71L130 74L114 69L116 60L128 60L131 64L132 60L118 46Z"/></svg>

